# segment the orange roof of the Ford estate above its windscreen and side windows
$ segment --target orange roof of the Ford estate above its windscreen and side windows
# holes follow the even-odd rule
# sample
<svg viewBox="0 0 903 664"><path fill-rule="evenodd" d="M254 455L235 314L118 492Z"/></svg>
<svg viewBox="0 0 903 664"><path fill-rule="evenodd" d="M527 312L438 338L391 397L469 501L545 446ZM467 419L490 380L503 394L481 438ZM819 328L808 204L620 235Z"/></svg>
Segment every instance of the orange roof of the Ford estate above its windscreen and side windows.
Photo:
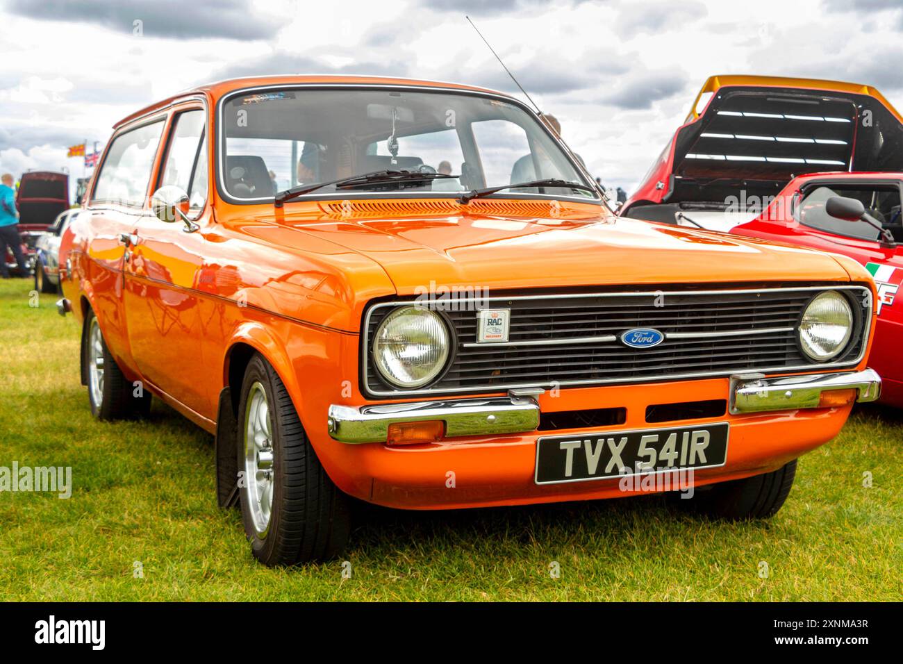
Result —
<svg viewBox="0 0 903 664"><path fill-rule="evenodd" d="M442 89L459 89L470 92L482 92L499 97L512 98L504 92L498 90L479 88L477 86L463 85L461 83L451 83L439 80L426 79L405 79L401 77L388 76L334 76L326 74L306 74L291 76L247 76L238 79L224 79L211 83L205 83L196 88L182 90L171 97L161 99L140 110L135 111L129 116L119 120L113 128L118 129L120 126L127 125L138 117L150 115L155 111L167 108L170 105L182 100L191 98L208 98L212 102L216 102L220 97L239 89L247 88L263 88L266 86L278 85L385 85L385 86L407 86L412 88L442 88ZM515 99L517 101L517 99Z"/></svg>

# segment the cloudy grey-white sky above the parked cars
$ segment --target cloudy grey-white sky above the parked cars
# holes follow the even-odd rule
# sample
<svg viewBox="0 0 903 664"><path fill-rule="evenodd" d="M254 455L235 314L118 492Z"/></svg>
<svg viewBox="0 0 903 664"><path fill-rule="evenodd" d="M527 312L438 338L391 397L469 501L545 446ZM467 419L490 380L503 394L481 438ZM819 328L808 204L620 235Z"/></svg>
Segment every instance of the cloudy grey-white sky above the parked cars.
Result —
<svg viewBox="0 0 903 664"><path fill-rule="evenodd" d="M903 108L900 0L0 0L0 170L83 174L66 146L215 79L385 74L527 91L628 192L712 74L841 79ZM136 23L140 22L140 23Z"/></svg>

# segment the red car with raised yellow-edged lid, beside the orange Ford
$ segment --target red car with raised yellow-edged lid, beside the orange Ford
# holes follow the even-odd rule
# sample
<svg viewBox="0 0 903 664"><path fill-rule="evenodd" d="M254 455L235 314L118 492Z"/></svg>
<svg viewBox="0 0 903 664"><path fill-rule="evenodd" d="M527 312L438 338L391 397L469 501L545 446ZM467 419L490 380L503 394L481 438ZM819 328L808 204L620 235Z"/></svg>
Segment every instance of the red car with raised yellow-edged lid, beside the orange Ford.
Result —
<svg viewBox="0 0 903 664"><path fill-rule="evenodd" d="M704 109L700 107L704 105ZM870 367L903 407L903 118L852 83L712 77L619 210L852 257L880 309Z"/></svg>

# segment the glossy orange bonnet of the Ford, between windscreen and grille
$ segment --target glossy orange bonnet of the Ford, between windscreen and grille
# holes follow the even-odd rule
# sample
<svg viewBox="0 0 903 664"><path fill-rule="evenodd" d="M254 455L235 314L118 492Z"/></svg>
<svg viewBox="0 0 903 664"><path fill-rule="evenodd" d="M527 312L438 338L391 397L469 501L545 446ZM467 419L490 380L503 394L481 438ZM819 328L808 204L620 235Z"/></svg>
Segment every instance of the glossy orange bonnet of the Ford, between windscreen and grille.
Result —
<svg viewBox="0 0 903 664"><path fill-rule="evenodd" d="M284 232L287 227L372 259L402 295L422 294L431 285L500 290L849 280L832 257L819 252L616 218L598 210L567 219L466 209L442 217L396 219L286 214L279 226L283 231L272 241L302 245L301 238L293 240Z"/></svg>

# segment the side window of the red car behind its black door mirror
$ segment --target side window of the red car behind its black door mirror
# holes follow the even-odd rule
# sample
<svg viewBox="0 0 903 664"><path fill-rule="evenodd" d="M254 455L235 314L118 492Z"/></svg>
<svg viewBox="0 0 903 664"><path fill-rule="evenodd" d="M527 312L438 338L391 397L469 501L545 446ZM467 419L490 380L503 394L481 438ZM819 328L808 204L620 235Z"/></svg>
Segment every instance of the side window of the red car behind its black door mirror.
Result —
<svg viewBox="0 0 903 664"><path fill-rule="evenodd" d="M803 201L797 208L800 223L847 238L878 240L878 229L865 221L845 221L829 215L824 210L824 205L833 196L861 201L870 220L889 229L895 237L901 234L903 224L900 220L900 190L896 184L817 186L805 192Z"/></svg>

